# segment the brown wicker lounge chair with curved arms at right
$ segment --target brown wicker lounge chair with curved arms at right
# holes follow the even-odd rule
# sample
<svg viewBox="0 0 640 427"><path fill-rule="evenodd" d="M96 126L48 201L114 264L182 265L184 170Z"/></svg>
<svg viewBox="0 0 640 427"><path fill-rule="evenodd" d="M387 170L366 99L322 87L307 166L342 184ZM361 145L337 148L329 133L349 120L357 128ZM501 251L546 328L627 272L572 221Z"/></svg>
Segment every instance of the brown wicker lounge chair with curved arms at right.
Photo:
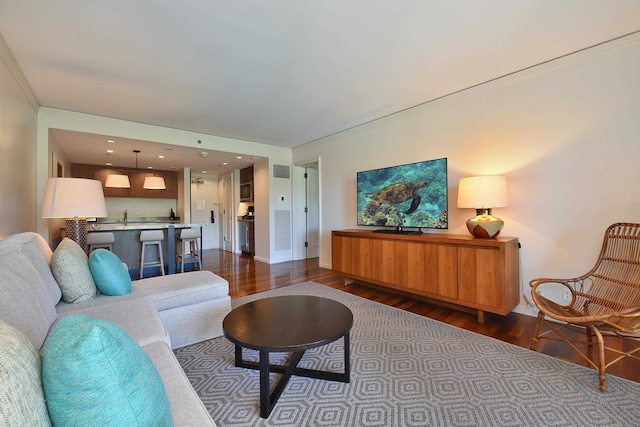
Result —
<svg viewBox="0 0 640 427"><path fill-rule="evenodd" d="M537 349L541 338L568 343L599 372L602 392L607 390L605 370L609 366L624 357L640 360L637 353L640 351L640 224L609 226L595 266L583 276L534 279L529 284L533 301L540 309L531 340L532 350ZM571 301L562 305L545 298L540 291L548 286L561 286L563 291L568 288ZM549 329L541 333L543 322ZM569 339L563 334L565 328L576 327L586 333L586 340ZM605 338L609 344L613 336L624 340L626 345L616 348L605 345ZM582 350L583 344L586 352ZM597 358L589 356L593 344L598 346ZM605 361L605 354L610 355L609 362Z"/></svg>

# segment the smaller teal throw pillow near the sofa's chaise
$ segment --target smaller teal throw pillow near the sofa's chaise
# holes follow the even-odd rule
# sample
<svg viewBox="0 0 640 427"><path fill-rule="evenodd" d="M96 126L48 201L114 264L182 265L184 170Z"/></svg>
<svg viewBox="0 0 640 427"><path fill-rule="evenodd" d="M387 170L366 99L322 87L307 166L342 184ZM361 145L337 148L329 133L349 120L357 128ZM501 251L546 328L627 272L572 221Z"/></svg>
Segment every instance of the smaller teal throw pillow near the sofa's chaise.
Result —
<svg viewBox="0 0 640 427"><path fill-rule="evenodd" d="M96 249L89 256L89 269L96 286L105 295L131 293L131 276L116 254Z"/></svg>

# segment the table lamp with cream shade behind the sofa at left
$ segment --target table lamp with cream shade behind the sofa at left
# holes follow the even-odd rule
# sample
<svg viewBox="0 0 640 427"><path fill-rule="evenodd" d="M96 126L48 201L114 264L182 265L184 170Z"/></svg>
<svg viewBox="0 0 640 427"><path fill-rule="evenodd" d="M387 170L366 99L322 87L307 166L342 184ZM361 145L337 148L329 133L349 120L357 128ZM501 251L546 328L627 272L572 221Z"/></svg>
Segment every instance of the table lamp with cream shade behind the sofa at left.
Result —
<svg viewBox="0 0 640 427"><path fill-rule="evenodd" d="M42 201L43 218L66 218L66 235L85 252L87 218L107 216L102 183L94 179L49 178Z"/></svg>

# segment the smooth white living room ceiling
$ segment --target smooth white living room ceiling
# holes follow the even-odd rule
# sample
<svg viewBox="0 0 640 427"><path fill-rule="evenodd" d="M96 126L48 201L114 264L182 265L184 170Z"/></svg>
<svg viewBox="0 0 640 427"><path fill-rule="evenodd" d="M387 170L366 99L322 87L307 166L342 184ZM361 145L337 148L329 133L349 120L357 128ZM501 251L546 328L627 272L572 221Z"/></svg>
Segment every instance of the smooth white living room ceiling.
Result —
<svg viewBox="0 0 640 427"><path fill-rule="evenodd" d="M285 147L639 30L638 0L0 0L41 105Z"/></svg>

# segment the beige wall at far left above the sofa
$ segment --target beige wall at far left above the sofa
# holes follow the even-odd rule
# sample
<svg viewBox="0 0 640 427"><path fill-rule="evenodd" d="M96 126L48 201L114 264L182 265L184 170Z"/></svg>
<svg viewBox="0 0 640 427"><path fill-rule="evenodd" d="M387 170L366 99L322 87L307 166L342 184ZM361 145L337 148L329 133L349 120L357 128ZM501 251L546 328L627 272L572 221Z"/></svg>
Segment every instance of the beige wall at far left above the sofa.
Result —
<svg viewBox="0 0 640 427"><path fill-rule="evenodd" d="M0 37L0 239L36 231L37 109Z"/></svg>

